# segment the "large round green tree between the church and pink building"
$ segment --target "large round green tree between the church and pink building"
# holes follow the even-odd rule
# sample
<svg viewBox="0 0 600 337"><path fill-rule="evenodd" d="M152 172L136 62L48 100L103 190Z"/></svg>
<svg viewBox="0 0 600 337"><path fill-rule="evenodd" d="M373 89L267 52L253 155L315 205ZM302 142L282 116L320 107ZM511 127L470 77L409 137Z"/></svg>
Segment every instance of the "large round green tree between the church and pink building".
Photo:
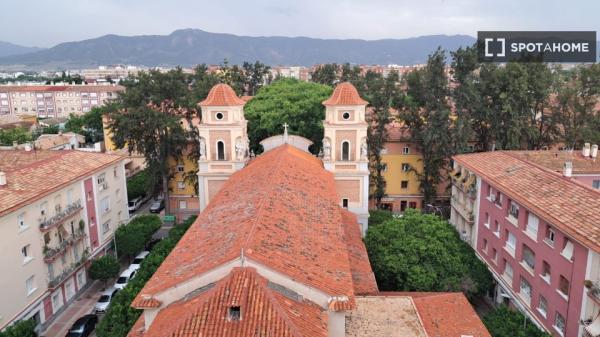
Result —
<svg viewBox="0 0 600 337"><path fill-rule="evenodd" d="M377 284L389 291L462 291L483 295L492 276L442 218L407 210L370 226L365 238Z"/></svg>

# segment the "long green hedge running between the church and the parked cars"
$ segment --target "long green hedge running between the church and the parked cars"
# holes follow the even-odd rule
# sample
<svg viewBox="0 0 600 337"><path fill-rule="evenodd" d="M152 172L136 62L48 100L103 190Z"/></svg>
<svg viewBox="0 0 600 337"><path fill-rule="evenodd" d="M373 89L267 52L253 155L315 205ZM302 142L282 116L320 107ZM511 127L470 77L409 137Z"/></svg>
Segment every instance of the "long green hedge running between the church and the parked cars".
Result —
<svg viewBox="0 0 600 337"><path fill-rule="evenodd" d="M141 310L132 308L131 302L175 248L177 242L195 219L195 216L190 217L184 223L173 227L169 231L169 235L152 248L150 254L142 262L136 276L127 283L122 291L117 293L111 302L104 318L96 328L98 337L125 337L129 333L129 330L142 313Z"/></svg>

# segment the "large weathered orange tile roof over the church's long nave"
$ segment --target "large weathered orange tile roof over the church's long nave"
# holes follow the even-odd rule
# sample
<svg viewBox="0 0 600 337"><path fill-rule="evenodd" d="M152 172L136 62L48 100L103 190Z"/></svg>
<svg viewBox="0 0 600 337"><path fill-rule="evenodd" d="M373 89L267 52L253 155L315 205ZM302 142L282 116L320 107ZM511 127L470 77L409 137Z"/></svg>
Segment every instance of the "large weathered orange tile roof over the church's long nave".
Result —
<svg viewBox="0 0 600 337"><path fill-rule="evenodd" d="M323 163L292 146L279 146L227 180L138 298L158 294L241 254L330 296L352 297L340 209L333 175Z"/></svg>

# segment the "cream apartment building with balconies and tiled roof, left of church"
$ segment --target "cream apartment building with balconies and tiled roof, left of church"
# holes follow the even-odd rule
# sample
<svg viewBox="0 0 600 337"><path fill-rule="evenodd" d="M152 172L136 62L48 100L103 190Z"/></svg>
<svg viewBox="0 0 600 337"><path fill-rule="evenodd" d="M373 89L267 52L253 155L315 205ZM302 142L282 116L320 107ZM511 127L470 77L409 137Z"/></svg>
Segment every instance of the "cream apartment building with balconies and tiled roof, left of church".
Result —
<svg viewBox="0 0 600 337"><path fill-rule="evenodd" d="M51 322L129 217L121 156L27 149L0 152L0 330Z"/></svg>

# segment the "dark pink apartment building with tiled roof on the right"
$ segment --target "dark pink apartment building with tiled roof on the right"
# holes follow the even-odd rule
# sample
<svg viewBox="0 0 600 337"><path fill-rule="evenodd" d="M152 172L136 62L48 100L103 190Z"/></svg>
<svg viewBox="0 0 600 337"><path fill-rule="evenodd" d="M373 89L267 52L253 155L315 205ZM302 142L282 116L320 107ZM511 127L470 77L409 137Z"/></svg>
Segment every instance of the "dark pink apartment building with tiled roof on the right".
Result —
<svg viewBox="0 0 600 337"><path fill-rule="evenodd" d="M455 156L451 221L494 275L496 303L553 336L598 336L597 151L546 152Z"/></svg>

